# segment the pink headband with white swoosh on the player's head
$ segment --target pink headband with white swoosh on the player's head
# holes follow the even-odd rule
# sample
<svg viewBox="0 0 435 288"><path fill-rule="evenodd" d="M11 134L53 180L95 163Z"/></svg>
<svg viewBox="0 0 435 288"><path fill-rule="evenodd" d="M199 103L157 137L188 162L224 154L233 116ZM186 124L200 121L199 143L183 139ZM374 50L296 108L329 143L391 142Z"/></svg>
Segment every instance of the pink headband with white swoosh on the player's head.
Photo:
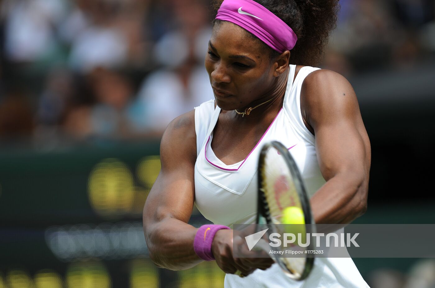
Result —
<svg viewBox="0 0 435 288"><path fill-rule="evenodd" d="M293 49L298 40L283 20L253 0L224 0L216 19L248 30L279 53Z"/></svg>

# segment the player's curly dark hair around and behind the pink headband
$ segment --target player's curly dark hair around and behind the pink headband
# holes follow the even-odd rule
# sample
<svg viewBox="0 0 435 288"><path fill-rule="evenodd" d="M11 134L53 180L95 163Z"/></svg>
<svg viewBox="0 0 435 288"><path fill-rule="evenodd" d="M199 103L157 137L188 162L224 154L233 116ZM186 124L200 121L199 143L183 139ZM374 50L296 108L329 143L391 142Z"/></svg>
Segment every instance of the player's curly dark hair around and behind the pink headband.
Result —
<svg viewBox="0 0 435 288"><path fill-rule="evenodd" d="M321 63L329 33L336 27L338 0L254 1L283 20L298 37L296 45L290 51L291 64L315 67ZM215 14L222 2L223 0L213 0ZM218 23L221 23L221 20L213 20L213 25ZM253 34L249 33L249 35L261 42L264 49L269 50L271 59L279 55Z"/></svg>

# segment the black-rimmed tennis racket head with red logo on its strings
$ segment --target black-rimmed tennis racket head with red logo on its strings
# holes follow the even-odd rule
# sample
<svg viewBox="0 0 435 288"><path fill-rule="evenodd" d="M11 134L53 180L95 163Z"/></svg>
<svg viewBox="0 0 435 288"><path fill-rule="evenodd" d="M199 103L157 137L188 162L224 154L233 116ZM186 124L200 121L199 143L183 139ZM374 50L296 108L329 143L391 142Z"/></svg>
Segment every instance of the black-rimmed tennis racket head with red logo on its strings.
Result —
<svg viewBox="0 0 435 288"><path fill-rule="evenodd" d="M300 208L303 212L306 233L314 233L314 220L310 202L298 166L288 149L278 141L264 144L258 159L258 214L257 231L269 228L268 234L278 232L282 235L281 222L283 210L288 207ZM299 249L314 250L312 244ZM284 248L275 248L284 250ZM303 280L310 274L314 256L303 258L274 257L285 274L294 280Z"/></svg>

